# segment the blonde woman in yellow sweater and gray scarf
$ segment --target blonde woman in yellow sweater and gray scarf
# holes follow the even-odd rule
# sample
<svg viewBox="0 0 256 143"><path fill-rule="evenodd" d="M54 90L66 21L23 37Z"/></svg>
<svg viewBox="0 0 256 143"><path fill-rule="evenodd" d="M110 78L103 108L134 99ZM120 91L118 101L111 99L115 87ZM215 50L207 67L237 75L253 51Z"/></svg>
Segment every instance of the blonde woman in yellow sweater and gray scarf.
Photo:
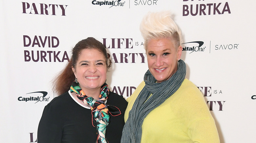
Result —
<svg viewBox="0 0 256 143"><path fill-rule="evenodd" d="M127 98L121 142L220 142L201 91L185 79L181 32L170 12L149 13L140 31L149 70Z"/></svg>

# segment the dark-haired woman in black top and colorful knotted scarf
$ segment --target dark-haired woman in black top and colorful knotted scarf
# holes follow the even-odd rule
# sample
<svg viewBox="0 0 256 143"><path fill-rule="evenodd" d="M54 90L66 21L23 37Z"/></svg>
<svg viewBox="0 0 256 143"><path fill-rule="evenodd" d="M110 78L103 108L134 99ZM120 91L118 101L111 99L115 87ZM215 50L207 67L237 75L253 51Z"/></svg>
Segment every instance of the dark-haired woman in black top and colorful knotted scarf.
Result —
<svg viewBox="0 0 256 143"><path fill-rule="evenodd" d="M69 63L54 81L59 96L44 108L38 143L120 142L127 102L105 83L110 66L98 40L90 37L75 45Z"/></svg>

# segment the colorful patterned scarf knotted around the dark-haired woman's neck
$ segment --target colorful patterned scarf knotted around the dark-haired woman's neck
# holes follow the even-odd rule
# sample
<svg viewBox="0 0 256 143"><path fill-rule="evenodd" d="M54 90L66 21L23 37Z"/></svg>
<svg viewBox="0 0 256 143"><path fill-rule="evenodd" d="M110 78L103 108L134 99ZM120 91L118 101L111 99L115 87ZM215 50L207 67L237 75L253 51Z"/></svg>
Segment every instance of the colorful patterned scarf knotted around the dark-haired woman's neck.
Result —
<svg viewBox="0 0 256 143"><path fill-rule="evenodd" d="M93 126L97 126L97 141L96 143L108 143L105 138L106 127L110 123L110 116L118 116L121 114L120 110L116 106L105 105L105 101L108 99L109 88L106 83L101 86L99 99L96 100L92 97L85 95L84 91L79 87L79 83L75 81L70 87L70 91L75 92L79 100L81 100L86 105L88 104L92 110L92 122Z"/></svg>

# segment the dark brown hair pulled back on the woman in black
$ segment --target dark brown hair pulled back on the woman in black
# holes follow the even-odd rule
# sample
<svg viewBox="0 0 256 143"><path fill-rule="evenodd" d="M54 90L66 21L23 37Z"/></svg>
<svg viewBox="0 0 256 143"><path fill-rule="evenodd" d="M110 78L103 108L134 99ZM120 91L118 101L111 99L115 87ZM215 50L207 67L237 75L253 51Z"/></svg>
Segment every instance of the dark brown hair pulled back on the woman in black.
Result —
<svg viewBox="0 0 256 143"><path fill-rule="evenodd" d="M66 67L57 75L53 80L53 91L56 92L57 96L67 92L70 89L72 82L75 80L74 72L72 67L75 68L76 62L83 49L96 49L101 52L106 58L107 68L110 68L112 62L107 55L105 46L98 40L88 37L87 39L79 41L72 49L72 56Z"/></svg>

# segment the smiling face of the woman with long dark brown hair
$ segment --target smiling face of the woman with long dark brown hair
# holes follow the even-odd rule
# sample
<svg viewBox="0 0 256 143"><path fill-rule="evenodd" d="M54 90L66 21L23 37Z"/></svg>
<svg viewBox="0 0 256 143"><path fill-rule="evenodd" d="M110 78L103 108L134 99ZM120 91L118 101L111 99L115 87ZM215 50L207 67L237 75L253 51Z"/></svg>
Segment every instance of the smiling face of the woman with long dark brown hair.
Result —
<svg viewBox="0 0 256 143"><path fill-rule="evenodd" d="M107 78L106 59L96 49L83 49L72 70L85 93L87 90L100 90Z"/></svg>

